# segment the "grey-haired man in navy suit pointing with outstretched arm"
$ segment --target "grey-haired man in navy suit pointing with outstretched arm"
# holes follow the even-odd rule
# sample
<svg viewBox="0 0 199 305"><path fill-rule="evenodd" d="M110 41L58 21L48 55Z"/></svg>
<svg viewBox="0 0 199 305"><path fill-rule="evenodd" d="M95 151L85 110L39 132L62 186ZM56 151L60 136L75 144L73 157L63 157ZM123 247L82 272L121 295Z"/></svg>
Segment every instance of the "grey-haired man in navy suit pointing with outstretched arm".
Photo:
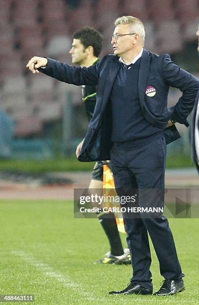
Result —
<svg viewBox="0 0 199 305"><path fill-rule="evenodd" d="M168 54L158 56L145 49L140 19L123 16L115 21L114 55L99 64L76 68L58 61L33 57L27 67L75 85L98 85L94 115L80 161L111 158L118 195L135 194L141 209L164 205L166 143L179 138L175 122L189 126L199 81L175 65ZM42 69L43 68L43 69ZM167 108L169 86L183 95ZM169 123L168 123L169 122ZM142 210L143 211L143 210ZM181 266L168 220L152 213L123 213L131 252L133 277L122 291L110 295L153 293L148 233L153 242L160 273L165 278L155 295L174 295L184 290Z"/></svg>

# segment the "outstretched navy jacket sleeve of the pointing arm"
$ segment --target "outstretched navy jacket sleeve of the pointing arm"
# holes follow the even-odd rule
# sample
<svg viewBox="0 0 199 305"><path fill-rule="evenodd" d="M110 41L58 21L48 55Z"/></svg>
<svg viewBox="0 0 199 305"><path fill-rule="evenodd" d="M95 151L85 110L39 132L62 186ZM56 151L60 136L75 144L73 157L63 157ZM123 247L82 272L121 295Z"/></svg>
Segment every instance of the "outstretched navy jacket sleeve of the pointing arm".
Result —
<svg viewBox="0 0 199 305"><path fill-rule="evenodd" d="M56 78L59 81L80 85L97 85L98 83L98 65L86 67L74 67L66 63L61 63L57 60L47 58L48 63L45 68L40 68L39 71Z"/></svg>

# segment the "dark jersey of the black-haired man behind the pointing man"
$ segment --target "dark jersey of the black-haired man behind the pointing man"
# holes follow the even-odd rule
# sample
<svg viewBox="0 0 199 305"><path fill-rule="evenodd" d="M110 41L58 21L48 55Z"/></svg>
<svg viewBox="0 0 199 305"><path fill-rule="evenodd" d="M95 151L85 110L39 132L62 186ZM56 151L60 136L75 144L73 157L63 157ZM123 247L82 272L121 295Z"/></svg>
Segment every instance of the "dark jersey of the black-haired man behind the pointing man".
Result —
<svg viewBox="0 0 199 305"><path fill-rule="evenodd" d="M98 58L93 62L92 65L95 65L99 61ZM93 112L96 104L96 86L82 86L82 100L85 105L86 115L88 121L93 117Z"/></svg>

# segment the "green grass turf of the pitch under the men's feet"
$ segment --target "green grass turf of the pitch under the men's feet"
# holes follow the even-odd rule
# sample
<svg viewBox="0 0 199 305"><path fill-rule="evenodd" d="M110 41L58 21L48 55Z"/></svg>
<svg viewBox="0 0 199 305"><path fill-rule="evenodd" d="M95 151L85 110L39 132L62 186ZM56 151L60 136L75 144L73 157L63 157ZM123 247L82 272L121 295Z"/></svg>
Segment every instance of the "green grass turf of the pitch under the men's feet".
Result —
<svg viewBox="0 0 199 305"><path fill-rule="evenodd" d="M74 219L72 202L0 200L0 224L0 295L32 294L36 305L199 304L198 219L170 219L186 274L186 290L173 297L108 296L126 287L131 266L93 264L109 249L106 236L97 219ZM156 291L163 279L153 249L151 271Z"/></svg>

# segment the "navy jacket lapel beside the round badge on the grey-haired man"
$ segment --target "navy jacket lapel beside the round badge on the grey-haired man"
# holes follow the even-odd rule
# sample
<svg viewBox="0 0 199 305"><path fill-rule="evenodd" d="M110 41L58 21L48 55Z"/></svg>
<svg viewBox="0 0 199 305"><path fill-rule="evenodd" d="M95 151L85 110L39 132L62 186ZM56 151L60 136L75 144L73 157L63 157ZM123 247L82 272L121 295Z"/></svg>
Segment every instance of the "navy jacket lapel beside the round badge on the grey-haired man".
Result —
<svg viewBox="0 0 199 305"><path fill-rule="evenodd" d="M142 108L145 103L145 91L147 87L150 59L151 59L150 53L144 49L140 62L140 72L139 72L139 80L138 80L139 99Z"/></svg>

